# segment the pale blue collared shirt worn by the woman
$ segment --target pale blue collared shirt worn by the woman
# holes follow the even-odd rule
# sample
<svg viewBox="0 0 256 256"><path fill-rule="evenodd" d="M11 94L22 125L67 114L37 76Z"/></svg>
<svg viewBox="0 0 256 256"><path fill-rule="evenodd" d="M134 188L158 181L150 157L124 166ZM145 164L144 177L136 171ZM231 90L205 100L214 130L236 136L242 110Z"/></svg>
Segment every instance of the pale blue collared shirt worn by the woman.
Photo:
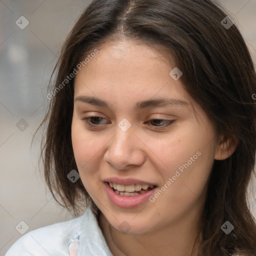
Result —
<svg viewBox="0 0 256 256"><path fill-rule="evenodd" d="M5 256L113 256L89 205L80 217L32 230Z"/></svg>

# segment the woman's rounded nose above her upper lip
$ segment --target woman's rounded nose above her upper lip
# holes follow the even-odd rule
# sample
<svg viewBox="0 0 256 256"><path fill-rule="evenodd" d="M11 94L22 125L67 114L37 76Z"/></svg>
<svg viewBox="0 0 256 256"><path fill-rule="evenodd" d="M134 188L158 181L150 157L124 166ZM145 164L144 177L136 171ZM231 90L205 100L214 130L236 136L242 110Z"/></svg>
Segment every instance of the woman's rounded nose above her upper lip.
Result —
<svg viewBox="0 0 256 256"><path fill-rule="evenodd" d="M145 144L131 127L123 131L117 126L116 134L108 143L104 160L115 169L134 168L134 165L139 166L145 161Z"/></svg>

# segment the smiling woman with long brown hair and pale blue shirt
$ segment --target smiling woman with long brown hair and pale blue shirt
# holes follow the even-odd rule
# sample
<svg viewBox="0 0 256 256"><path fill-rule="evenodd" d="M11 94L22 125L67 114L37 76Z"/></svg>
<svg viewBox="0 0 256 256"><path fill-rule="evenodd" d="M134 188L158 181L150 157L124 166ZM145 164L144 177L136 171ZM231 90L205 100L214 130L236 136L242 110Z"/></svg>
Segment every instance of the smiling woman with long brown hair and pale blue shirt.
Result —
<svg viewBox="0 0 256 256"><path fill-rule="evenodd" d="M256 254L256 74L216 3L94 0L56 71L45 179L75 216L88 207L6 256Z"/></svg>

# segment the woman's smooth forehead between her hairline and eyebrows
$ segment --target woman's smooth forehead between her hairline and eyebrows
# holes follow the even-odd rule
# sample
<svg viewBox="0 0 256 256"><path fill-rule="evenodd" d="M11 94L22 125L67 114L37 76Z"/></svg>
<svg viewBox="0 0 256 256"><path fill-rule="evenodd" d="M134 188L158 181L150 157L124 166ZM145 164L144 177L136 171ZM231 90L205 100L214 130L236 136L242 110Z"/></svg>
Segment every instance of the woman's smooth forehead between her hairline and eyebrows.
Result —
<svg viewBox="0 0 256 256"><path fill-rule="evenodd" d="M76 74L75 93L93 88L104 96L142 93L153 97L177 91L184 96L181 82L169 75L175 66L164 56L166 52L134 40L111 41L97 49L98 53Z"/></svg>

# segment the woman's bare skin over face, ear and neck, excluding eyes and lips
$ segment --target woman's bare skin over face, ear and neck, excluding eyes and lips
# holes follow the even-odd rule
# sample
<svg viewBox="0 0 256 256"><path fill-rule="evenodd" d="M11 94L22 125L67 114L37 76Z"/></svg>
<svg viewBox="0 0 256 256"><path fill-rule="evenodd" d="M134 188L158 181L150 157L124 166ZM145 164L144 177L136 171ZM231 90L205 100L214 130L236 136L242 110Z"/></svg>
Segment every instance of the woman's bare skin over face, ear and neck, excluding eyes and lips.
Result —
<svg viewBox="0 0 256 256"><path fill-rule="evenodd" d="M80 178L102 213L99 225L109 249L118 256L188 256L213 161L229 157L237 142L217 136L204 110L169 75L175 65L161 50L128 39L97 49L75 77L71 135ZM80 95L107 101L110 109L75 100ZM160 97L187 105L133 108L137 101ZM99 124L90 127L82 120L88 116L105 119L92 120ZM125 132L118 127L123 118L131 123ZM164 127L166 122L152 119L175 122ZM137 178L160 188L197 151L200 156L155 201L122 208L108 198L104 179ZM130 226L126 233L119 231L124 220Z"/></svg>

